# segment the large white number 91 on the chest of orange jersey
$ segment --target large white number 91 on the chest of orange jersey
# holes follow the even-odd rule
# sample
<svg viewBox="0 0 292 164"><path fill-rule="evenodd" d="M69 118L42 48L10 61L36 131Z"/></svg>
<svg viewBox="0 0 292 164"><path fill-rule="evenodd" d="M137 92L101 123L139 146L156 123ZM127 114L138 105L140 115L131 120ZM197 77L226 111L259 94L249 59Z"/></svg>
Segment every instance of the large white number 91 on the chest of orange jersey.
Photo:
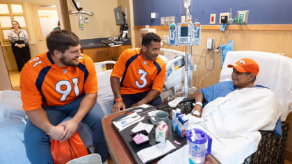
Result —
<svg viewBox="0 0 292 164"><path fill-rule="evenodd" d="M78 78L73 78L72 82L74 84L74 93L75 93L75 97L77 97L80 92L79 92L79 88L78 88ZM66 86L65 90L62 90L61 87L62 85ZM56 83L55 85L55 90L62 94L62 97L60 98L60 101L65 101L66 97L70 94L71 90L72 90L72 85L70 83L70 81L58 81L58 83Z"/></svg>

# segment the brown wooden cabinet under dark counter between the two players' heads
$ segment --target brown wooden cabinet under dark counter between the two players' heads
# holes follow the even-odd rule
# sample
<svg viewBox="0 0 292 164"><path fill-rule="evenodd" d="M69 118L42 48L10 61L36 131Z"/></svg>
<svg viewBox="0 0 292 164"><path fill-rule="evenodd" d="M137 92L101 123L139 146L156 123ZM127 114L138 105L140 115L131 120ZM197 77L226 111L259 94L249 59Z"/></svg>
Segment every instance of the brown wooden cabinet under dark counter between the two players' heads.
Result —
<svg viewBox="0 0 292 164"><path fill-rule="evenodd" d="M117 47L100 47L92 49L81 49L83 54L86 54L92 58L94 63L102 62L106 60L117 60L125 49L130 49L131 45L122 45Z"/></svg>

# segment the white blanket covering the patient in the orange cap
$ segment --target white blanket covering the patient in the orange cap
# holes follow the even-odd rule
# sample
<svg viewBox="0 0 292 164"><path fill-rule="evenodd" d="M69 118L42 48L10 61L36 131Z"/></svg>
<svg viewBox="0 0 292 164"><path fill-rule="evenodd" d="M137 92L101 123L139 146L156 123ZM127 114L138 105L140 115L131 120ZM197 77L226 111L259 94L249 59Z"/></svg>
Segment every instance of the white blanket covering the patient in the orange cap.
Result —
<svg viewBox="0 0 292 164"><path fill-rule="evenodd" d="M213 139L211 154L221 163L235 164L257 151L258 130L273 131L279 115L273 91L244 88L211 101L201 118L189 115L189 125Z"/></svg>

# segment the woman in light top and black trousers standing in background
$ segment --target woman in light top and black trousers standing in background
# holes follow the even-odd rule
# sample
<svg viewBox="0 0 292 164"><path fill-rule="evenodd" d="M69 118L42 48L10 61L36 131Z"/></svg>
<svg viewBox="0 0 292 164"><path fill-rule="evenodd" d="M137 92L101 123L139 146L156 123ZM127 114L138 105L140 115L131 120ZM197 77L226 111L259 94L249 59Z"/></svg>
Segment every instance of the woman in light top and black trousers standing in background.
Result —
<svg viewBox="0 0 292 164"><path fill-rule="evenodd" d="M22 71L24 64L31 58L29 49L29 35L26 31L20 29L17 21L11 22L13 29L8 33L8 39L12 45L18 72Z"/></svg>

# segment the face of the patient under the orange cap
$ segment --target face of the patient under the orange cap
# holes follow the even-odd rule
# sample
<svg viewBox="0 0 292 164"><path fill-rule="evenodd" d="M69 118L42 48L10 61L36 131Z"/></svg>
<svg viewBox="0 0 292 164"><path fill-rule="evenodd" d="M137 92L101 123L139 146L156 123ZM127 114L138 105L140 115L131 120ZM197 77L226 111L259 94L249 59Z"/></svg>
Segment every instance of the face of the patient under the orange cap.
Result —
<svg viewBox="0 0 292 164"><path fill-rule="evenodd" d="M233 68L232 81L236 89L242 89L250 85L250 75L244 72L238 72Z"/></svg>

